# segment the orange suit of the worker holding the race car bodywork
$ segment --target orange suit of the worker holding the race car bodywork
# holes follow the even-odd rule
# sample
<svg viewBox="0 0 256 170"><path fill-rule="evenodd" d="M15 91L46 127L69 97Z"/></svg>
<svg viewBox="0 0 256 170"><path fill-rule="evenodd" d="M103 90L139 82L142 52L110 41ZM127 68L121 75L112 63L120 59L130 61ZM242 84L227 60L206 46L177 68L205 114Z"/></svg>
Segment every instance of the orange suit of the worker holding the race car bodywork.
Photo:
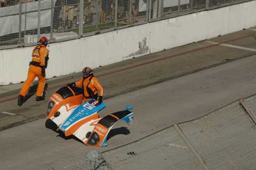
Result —
<svg viewBox="0 0 256 170"><path fill-rule="evenodd" d="M99 80L97 78L95 78L93 75L91 75L90 77L87 77L87 78L82 78L80 81L77 81L75 83L76 83L76 86L83 86L83 89L84 89L83 103L85 103L85 101L90 100L92 98L92 97L90 97L89 92L87 91L87 87L93 91L94 95L97 95L98 91L99 91L99 96L103 97L104 89L101 86Z"/></svg>

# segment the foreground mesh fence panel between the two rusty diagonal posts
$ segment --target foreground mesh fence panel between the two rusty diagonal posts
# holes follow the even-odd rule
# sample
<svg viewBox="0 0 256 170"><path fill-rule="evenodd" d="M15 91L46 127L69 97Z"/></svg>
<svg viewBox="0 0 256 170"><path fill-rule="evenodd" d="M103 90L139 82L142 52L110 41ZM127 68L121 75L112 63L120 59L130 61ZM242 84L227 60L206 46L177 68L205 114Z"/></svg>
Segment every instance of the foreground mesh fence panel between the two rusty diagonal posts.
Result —
<svg viewBox="0 0 256 170"><path fill-rule="evenodd" d="M238 101L179 126L210 169L246 169L255 163L255 124Z"/></svg>

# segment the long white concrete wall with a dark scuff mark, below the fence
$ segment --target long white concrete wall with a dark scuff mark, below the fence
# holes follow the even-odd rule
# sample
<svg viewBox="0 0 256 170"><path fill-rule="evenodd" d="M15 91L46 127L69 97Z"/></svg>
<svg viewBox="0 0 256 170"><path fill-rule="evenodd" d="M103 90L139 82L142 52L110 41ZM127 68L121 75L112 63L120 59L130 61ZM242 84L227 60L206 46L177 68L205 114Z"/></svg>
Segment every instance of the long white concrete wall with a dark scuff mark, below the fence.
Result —
<svg viewBox="0 0 256 170"><path fill-rule="evenodd" d="M256 1L50 44L46 78L81 72L255 27ZM0 85L27 78L34 47L0 50Z"/></svg>

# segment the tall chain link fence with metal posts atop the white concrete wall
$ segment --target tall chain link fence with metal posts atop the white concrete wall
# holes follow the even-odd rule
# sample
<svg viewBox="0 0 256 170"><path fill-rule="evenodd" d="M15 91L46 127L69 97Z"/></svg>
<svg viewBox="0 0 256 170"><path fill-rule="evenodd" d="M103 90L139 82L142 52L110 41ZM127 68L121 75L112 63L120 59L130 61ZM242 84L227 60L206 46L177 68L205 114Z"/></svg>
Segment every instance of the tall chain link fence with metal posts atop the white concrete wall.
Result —
<svg viewBox="0 0 256 170"><path fill-rule="evenodd" d="M251 0L9 0L0 7L0 49L97 35Z"/></svg>

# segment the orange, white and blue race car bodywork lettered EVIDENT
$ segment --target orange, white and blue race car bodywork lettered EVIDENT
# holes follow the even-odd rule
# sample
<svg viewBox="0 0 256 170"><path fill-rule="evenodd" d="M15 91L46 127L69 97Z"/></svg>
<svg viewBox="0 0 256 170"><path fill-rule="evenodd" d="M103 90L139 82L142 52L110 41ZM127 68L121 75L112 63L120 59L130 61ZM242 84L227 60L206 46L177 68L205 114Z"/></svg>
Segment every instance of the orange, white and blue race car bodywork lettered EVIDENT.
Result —
<svg viewBox="0 0 256 170"><path fill-rule="evenodd" d="M66 136L75 135L88 146L107 146L107 135L114 124L124 120L133 122L133 113L126 106L119 111L104 117L98 112L105 108L104 103L90 99L83 101L82 90L77 87L62 87L51 96L46 107L46 117L51 119Z"/></svg>

